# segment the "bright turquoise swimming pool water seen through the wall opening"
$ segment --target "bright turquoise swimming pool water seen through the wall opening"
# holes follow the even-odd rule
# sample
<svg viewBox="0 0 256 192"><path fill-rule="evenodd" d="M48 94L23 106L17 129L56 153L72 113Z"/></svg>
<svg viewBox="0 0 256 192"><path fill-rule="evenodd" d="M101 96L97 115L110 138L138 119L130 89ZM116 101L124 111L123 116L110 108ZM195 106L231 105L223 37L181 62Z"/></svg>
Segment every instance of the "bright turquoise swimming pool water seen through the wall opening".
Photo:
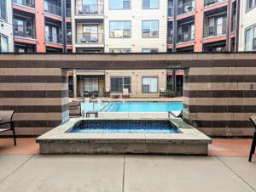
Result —
<svg viewBox="0 0 256 192"><path fill-rule="evenodd" d="M82 103L82 110L102 112L167 112L183 110L182 102L109 102L102 104Z"/></svg>

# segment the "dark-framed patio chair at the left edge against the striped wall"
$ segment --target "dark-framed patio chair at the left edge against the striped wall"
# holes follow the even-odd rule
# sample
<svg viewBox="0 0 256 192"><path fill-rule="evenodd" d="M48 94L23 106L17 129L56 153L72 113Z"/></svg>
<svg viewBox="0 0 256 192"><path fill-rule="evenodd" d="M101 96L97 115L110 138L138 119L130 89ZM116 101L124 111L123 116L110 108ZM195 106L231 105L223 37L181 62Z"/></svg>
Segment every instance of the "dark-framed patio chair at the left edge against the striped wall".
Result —
<svg viewBox="0 0 256 192"><path fill-rule="evenodd" d="M0 110L0 133L12 131L16 145L15 121L13 121L14 110Z"/></svg>

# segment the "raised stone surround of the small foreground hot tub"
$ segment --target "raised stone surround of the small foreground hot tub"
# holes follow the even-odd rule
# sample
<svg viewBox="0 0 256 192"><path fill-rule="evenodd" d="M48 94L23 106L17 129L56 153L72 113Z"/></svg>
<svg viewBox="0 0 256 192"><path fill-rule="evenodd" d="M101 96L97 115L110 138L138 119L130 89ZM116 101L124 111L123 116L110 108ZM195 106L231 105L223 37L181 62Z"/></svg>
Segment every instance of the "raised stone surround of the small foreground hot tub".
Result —
<svg viewBox="0 0 256 192"><path fill-rule="evenodd" d="M212 142L181 119L171 121L182 133L67 133L81 120L67 121L37 138L40 153L207 155Z"/></svg>

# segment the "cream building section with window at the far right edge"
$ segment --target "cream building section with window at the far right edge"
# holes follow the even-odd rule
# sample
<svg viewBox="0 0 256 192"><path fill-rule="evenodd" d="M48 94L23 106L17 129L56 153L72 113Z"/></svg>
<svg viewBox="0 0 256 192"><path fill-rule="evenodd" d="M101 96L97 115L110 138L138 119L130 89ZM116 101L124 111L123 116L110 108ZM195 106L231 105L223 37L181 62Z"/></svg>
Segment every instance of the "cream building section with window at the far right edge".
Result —
<svg viewBox="0 0 256 192"><path fill-rule="evenodd" d="M241 1L239 51L256 51L256 1Z"/></svg>

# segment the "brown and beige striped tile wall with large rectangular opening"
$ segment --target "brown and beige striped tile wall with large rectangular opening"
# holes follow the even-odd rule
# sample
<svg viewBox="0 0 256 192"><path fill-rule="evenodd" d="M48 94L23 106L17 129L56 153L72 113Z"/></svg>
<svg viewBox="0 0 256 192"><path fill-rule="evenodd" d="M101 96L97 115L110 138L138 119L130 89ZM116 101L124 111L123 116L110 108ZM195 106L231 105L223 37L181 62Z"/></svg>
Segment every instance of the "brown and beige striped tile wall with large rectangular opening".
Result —
<svg viewBox="0 0 256 192"><path fill-rule="evenodd" d="M67 69L185 69L184 120L214 136L253 133L256 54L1 54L0 110L15 110L18 135L68 118ZM6 133L9 134L9 133Z"/></svg>

